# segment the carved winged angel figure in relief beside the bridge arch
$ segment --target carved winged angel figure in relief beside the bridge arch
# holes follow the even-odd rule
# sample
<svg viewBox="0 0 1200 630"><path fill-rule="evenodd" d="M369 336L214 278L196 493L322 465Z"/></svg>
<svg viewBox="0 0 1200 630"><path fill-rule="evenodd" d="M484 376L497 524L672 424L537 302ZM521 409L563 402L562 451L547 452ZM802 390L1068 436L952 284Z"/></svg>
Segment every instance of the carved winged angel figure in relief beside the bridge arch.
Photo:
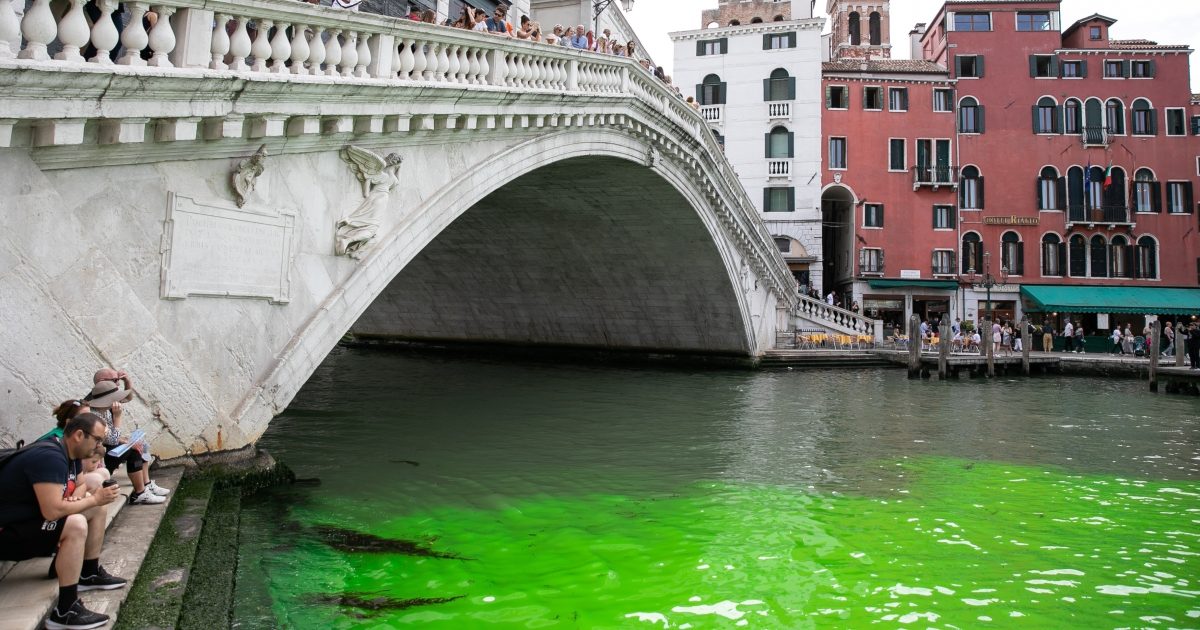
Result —
<svg viewBox="0 0 1200 630"><path fill-rule="evenodd" d="M391 190L400 182L400 164L403 158L396 154L386 157L347 145L342 160L350 164L354 175L362 184L362 203L337 222L334 251L337 256L360 258L362 248L376 238L383 212L388 208Z"/></svg>

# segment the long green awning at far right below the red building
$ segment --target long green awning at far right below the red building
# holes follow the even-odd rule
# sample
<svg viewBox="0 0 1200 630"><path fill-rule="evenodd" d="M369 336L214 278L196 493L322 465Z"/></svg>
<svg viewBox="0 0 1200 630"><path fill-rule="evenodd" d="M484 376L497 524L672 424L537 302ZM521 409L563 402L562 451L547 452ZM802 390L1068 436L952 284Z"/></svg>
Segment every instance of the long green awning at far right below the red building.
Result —
<svg viewBox="0 0 1200 630"><path fill-rule="evenodd" d="M1026 311L1049 313L1200 313L1200 289L1160 287L1021 287Z"/></svg>

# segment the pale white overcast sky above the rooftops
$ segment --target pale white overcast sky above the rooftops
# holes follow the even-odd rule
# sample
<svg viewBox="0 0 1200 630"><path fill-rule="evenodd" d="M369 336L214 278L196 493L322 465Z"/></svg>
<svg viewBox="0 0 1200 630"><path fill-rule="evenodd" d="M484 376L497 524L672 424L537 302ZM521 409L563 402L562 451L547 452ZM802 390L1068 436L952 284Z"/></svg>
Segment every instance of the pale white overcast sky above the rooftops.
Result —
<svg viewBox="0 0 1200 630"><path fill-rule="evenodd" d="M673 67L672 31L701 28L700 12L716 8L718 0L636 0L625 14L654 62L667 74ZM817 0L817 12L824 13L826 0ZM941 8L941 0L893 0L892 56L908 58L908 31L919 22L930 22ZM1200 0L1063 0L1063 26L1100 13L1117 20L1112 26L1116 40L1153 40L1164 44L1188 44L1200 50ZM829 25L826 24L826 32ZM1192 91L1200 92L1200 60L1192 55Z"/></svg>

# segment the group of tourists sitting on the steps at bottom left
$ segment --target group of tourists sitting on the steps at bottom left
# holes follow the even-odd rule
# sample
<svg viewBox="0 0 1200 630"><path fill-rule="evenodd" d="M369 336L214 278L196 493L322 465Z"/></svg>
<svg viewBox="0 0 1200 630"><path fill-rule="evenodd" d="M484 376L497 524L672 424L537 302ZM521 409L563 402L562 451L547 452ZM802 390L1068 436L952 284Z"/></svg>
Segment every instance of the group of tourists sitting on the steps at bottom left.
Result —
<svg viewBox="0 0 1200 630"><path fill-rule="evenodd" d="M108 616L88 610L79 593L126 586L100 564L108 505L121 498L113 474L124 464L133 492L131 505L164 503L169 490L150 479L150 443L128 432L124 403L133 398L133 379L103 368L88 395L58 404L55 425L43 436L0 458L0 560L53 556L48 577L59 598L46 628L89 629Z"/></svg>

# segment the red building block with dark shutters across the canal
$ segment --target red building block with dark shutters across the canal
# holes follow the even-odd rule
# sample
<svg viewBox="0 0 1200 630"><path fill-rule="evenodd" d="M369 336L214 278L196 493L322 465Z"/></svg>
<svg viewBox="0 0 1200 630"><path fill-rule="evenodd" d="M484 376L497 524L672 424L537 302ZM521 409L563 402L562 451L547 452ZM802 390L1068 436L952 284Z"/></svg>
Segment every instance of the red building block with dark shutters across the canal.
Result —
<svg viewBox="0 0 1200 630"><path fill-rule="evenodd" d="M1088 331L1183 316L1181 296L1200 313L1188 47L1114 40L1098 14L1063 29L1058 0L950 0L917 60L871 59L838 41L846 5L822 77L826 292L889 322L976 319L988 284L1002 318L1062 318L1048 294L1072 292L1039 287L1080 287Z"/></svg>

